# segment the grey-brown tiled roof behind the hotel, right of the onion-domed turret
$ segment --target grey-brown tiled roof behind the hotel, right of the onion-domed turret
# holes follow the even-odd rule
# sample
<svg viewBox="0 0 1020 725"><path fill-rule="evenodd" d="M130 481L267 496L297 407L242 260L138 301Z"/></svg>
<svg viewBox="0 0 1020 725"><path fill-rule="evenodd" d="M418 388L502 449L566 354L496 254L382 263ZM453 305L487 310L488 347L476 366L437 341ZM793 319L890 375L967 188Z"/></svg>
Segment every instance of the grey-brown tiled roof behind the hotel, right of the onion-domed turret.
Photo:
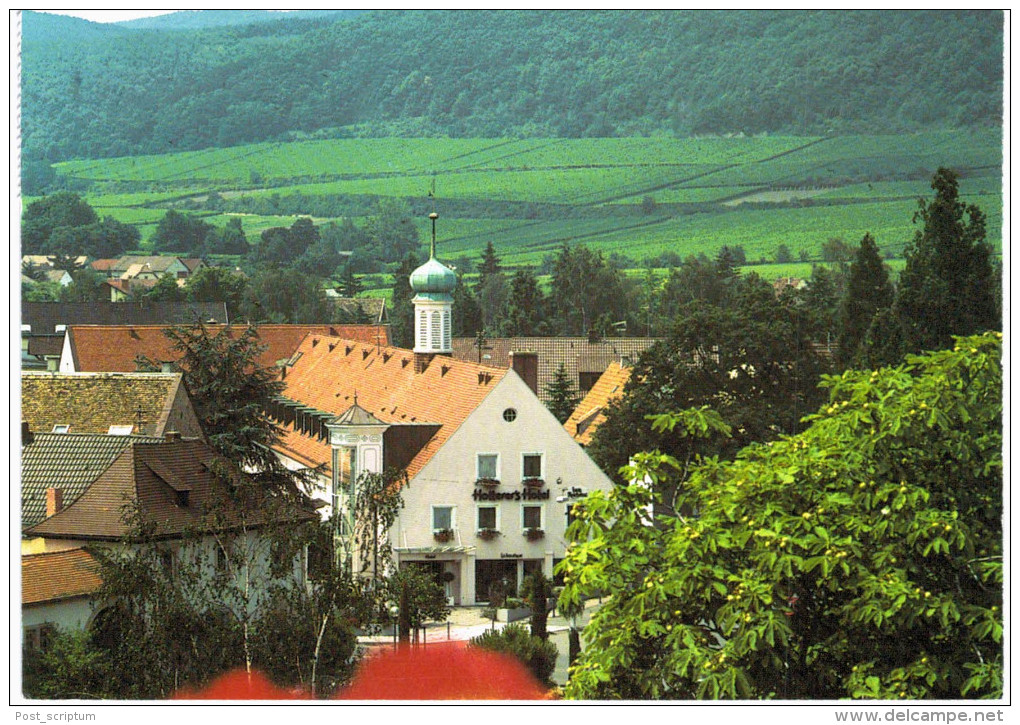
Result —
<svg viewBox="0 0 1020 725"><path fill-rule="evenodd" d="M576 385L581 373L602 374L610 363L636 361L656 338L605 338L597 343L588 338L492 338L486 340L482 362L509 367L510 353L536 353L539 357L539 399L549 402L546 387L562 364ZM474 338L454 338L453 356L458 360L478 360Z"/></svg>

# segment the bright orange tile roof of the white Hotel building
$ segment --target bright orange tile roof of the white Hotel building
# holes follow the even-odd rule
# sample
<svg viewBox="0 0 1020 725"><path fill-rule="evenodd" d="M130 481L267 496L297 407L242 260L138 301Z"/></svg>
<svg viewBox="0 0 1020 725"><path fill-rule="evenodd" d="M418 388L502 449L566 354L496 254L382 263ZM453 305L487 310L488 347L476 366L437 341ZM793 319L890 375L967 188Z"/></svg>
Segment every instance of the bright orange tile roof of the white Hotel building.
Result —
<svg viewBox="0 0 1020 725"><path fill-rule="evenodd" d="M416 453L408 459L407 472L414 476L507 373L442 356L423 372L414 370L410 350L310 334L298 347L283 395L334 415L346 412L357 396L359 406L385 423L431 424L435 434L413 444ZM293 424L284 425L277 448L306 464L330 464L328 443L296 431Z"/></svg>

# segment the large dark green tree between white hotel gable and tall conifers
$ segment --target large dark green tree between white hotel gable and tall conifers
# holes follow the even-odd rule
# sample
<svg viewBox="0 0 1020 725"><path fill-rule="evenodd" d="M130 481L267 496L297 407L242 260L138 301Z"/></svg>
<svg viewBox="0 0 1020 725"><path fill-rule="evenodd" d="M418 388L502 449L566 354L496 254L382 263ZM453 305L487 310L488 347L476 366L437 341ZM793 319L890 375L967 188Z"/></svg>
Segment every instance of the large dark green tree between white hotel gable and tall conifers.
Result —
<svg viewBox="0 0 1020 725"><path fill-rule="evenodd" d="M806 310L777 299L756 276L741 282L732 307L703 302L682 308L670 334L634 364L623 396L613 402L589 451L610 474L640 451L678 458L698 453L732 455L754 442L798 430L799 419L821 401L824 361L808 344ZM650 430L646 416L709 406L731 438L695 441Z"/></svg>

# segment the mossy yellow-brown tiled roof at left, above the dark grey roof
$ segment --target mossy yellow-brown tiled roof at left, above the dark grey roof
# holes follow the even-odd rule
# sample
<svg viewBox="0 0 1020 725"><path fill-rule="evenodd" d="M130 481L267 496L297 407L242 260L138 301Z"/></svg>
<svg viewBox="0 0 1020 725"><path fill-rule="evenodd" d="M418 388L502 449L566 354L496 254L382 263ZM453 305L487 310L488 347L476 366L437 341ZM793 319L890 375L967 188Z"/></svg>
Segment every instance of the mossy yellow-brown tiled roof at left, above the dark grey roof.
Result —
<svg viewBox="0 0 1020 725"><path fill-rule="evenodd" d="M69 425L72 433L107 433L128 425L162 435L181 385L178 372L22 372L21 420L40 432Z"/></svg>

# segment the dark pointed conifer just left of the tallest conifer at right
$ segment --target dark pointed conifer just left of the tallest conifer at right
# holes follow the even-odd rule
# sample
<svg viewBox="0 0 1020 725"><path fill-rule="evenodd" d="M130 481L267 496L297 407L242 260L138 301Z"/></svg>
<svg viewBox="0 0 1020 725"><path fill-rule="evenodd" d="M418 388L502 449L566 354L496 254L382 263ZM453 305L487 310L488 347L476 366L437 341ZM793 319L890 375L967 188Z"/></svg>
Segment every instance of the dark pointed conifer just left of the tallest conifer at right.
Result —
<svg viewBox="0 0 1020 725"><path fill-rule="evenodd" d="M867 234L861 240L854 262L850 266L847 293L839 305L839 339L836 359L844 367L855 364L871 321L882 309L891 307L892 284L882 263L878 245Z"/></svg>

